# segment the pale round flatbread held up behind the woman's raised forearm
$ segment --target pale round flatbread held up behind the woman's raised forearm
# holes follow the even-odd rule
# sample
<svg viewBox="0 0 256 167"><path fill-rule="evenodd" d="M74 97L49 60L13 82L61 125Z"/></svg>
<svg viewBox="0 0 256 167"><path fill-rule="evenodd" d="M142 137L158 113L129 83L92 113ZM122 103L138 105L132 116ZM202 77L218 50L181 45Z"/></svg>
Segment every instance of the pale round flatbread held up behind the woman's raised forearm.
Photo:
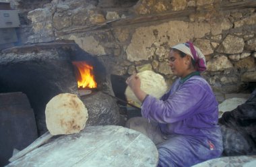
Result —
<svg viewBox="0 0 256 167"><path fill-rule="evenodd" d="M137 76L139 76L141 80L141 90L146 92L148 95L152 95L153 97L160 99L160 97L162 97L162 95L164 95L168 90L164 77L156 72L145 70L137 73ZM135 97L130 87L125 89L125 96L129 103L137 106L141 105L141 102L137 97Z"/></svg>

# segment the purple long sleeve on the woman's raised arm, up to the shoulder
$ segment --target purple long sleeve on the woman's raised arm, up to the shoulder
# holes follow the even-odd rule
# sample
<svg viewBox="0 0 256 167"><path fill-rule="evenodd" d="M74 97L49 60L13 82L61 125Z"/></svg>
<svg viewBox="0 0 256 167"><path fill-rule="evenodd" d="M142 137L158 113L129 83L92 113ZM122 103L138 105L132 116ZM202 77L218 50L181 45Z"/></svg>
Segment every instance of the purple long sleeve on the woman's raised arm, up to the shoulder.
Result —
<svg viewBox="0 0 256 167"><path fill-rule="evenodd" d="M175 89L175 86L173 87ZM209 87L201 79L187 80L179 89L171 91L168 99L158 100L148 96L143 102L142 115L158 123L174 123L205 112L213 100ZM166 96L166 95L165 95ZM205 110L204 110L205 109Z"/></svg>

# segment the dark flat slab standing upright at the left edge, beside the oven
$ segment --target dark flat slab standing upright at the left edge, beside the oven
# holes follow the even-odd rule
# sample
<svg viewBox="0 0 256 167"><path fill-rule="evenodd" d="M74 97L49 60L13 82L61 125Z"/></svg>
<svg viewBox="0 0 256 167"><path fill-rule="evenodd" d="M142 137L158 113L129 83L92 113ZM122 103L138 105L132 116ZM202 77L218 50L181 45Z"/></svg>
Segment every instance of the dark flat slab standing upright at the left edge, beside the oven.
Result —
<svg viewBox="0 0 256 167"><path fill-rule="evenodd" d="M0 166L13 149L22 150L38 137L34 111L24 93L0 94Z"/></svg>

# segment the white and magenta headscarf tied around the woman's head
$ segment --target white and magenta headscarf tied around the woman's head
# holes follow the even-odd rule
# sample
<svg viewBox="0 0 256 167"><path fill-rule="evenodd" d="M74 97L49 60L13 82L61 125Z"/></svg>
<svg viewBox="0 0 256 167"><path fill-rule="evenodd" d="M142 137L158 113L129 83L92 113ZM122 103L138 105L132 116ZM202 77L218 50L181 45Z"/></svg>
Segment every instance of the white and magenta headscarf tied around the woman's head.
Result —
<svg viewBox="0 0 256 167"><path fill-rule="evenodd" d="M181 52L189 54L195 61L195 67L197 71L203 72L204 70L206 70L205 56L203 55L201 50L199 50L199 48L194 46L191 42L177 44L176 46L173 46L172 49L181 50Z"/></svg>

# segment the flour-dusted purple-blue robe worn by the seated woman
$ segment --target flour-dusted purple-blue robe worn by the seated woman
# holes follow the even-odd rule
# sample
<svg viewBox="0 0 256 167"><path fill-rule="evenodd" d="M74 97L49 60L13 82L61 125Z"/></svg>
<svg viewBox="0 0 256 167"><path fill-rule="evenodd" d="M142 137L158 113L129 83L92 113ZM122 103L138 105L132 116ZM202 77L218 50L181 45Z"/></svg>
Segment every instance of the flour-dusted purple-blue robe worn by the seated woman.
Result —
<svg viewBox="0 0 256 167"><path fill-rule="evenodd" d="M222 153L218 102L201 76L184 82L179 78L160 100L149 95L141 114L158 122L162 134L168 136L158 146L158 166L191 166Z"/></svg>

